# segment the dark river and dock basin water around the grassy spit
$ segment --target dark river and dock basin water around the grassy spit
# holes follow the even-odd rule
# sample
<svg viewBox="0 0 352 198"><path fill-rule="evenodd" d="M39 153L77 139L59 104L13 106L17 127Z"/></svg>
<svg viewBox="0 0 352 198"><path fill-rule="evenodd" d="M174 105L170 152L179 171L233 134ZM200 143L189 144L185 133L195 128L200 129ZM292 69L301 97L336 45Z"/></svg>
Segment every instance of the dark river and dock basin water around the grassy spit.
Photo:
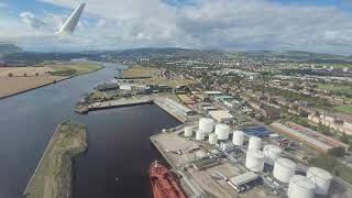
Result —
<svg viewBox="0 0 352 198"><path fill-rule="evenodd" d="M22 197L55 128L68 119L88 128L89 150L75 161L76 198L152 197L147 167L161 156L148 136L179 122L154 105L76 114L77 100L113 78L117 66L105 65L0 100L0 198Z"/></svg>

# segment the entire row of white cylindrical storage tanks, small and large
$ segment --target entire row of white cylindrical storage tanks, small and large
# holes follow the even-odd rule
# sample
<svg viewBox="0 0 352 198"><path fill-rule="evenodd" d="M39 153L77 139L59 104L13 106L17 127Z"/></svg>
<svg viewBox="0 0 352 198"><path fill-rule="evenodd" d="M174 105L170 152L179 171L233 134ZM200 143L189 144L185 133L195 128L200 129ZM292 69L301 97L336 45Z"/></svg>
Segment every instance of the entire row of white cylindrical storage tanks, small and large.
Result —
<svg viewBox="0 0 352 198"><path fill-rule="evenodd" d="M215 132L213 132L215 131ZM186 138L193 136L193 128L185 127ZM215 124L215 121L209 118L199 120L196 140L205 141L208 136L210 144L218 144L222 141L220 147L226 150L230 143L226 143L230 135L230 127L223 123ZM244 142L244 132L233 131L232 144L242 146ZM276 145L265 145L263 151L262 139L251 136L245 158L245 167L252 172L263 172L264 164L274 166L273 176L276 180L288 184L287 195L289 198L312 198L315 195L328 195L332 176L324 169L310 167L307 170L307 176L295 175L296 163L292 160L282 157L283 150Z"/></svg>

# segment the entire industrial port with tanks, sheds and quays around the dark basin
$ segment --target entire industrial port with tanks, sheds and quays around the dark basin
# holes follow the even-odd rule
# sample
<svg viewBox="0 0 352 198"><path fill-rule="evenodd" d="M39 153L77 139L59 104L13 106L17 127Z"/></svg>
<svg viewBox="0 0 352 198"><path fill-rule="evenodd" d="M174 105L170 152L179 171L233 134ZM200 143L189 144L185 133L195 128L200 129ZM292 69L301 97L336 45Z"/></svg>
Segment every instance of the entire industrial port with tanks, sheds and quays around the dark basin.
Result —
<svg viewBox="0 0 352 198"><path fill-rule="evenodd" d="M180 121L150 140L187 197L351 197L350 184L308 163L348 144L290 121L258 122L248 117L252 108L221 91L129 80L99 85L75 110L155 103Z"/></svg>

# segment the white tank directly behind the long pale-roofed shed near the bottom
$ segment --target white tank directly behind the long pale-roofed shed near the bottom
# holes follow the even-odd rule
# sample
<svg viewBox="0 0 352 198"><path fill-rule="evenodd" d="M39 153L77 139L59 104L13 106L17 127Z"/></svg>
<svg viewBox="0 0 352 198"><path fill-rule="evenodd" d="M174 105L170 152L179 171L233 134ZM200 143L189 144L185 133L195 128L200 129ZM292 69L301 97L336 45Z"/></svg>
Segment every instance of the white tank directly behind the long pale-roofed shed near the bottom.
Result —
<svg viewBox="0 0 352 198"><path fill-rule="evenodd" d="M246 152L245 167L248 167L252 172L263 172L264 154L261 151Z"/></svg>

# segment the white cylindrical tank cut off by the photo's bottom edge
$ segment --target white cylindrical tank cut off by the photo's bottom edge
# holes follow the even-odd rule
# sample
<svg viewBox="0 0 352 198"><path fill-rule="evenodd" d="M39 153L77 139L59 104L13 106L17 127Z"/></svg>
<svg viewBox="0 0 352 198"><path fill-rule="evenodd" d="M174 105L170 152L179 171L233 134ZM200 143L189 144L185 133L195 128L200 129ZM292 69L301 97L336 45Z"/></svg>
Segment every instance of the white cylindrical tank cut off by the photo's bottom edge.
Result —
<svg viewBox="0 0 352 198"><path fill-rule="evenodd" d="M294 175L288 185L288 198L314 198L316 185L307 177Z"/></svg>

